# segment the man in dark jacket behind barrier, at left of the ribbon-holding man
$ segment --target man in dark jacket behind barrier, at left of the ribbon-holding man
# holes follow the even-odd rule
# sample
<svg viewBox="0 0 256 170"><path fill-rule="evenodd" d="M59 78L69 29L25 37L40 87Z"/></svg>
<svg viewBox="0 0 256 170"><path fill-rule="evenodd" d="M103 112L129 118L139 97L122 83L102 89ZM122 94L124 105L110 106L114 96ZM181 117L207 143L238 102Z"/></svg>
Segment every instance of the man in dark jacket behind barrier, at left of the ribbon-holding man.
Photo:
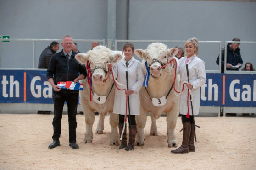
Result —
<svg viewBox="0 0 256 170"><path fill-rule="evenodd" d="M60 44L56 41L53 41L50 43L50 46L45 48L40 57L38 62L38 68L39 69L47 69L50 58L53 54L55 54L59 50ZM50 114L51 111L37 111L37 114Z"/></svg>

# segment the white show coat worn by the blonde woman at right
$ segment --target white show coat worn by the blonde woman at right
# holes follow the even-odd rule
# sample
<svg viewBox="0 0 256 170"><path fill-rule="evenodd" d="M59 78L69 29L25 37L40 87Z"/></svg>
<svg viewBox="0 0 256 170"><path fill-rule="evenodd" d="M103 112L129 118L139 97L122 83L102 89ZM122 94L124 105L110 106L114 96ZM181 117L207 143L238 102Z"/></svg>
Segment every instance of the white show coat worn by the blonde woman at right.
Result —
<svg viewBox="0 0 256 170"><path fill-rule="evenodd" d="M177 74L180 74L180 85L183 84L184 81L188 82L187 70L186 70L186 60L187 56L180 58L179 64L177 64ZM189 80L193 85L191 89L193 95L193 111L194 115L198 115L199 107L200 107L200 86L204 85L206 82L206 69L205 62L198 58L196 55L189 58L188 61L189 66ZM188 112L187 105L187 97L188 97L188 88L184 85L184 90L180 96L180 114L186 115ZM192 115L191 104L190 104L190 96L189 96L189 115Z"/></svg>

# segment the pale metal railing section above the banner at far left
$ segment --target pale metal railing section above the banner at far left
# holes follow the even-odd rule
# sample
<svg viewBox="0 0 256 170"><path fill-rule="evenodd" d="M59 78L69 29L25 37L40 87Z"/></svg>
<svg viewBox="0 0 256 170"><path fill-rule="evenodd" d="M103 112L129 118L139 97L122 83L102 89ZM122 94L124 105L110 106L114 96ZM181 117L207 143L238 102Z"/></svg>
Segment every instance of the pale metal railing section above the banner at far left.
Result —
<svg viewBox="0 0 256 170"><path fill-rule="evenodd" d="M0 38L0 68L1 68L1 47L2 47L2 41L25 41L25 42L33 42L33 68L36 68L36 42L41 41L61 41L61 39L17 39L17 38L10 38L10 39L2 39ZM73 39L73 41L76 42L102 42L103 45L105 45L105 40L96 40L96 39Z"/></svg>

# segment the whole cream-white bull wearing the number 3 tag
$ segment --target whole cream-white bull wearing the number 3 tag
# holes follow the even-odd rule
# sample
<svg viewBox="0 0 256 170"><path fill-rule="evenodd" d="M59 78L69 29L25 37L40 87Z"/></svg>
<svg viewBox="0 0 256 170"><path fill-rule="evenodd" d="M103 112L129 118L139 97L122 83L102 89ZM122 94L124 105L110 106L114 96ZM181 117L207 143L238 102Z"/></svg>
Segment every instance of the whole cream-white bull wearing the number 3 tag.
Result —
<svg viewBox="0 0 256 170"><path fill-rule="evenodd" d="M162 43L152 43L146 50L136 49L134 51L137 56L143 59L141 64L144 75L147 73L145 61L150 72L149 87L146 88L148 93L145 88L140 90L140 115L136 116L138 130L136 142L139 146L143 146L145 141L144 127L146 124L146 113L150 113L152 120L150 135L158 135L156 119L161 117L163 113L166 113L168 147L177 147L174 130L179 114L180 96L174 94L173 88L167 96L174 82L175 67L173 67L174 64L172 66L168 64L164 69L161 68L173 58L178 61L178 59L174 57L177 52L177 48L168 49L167 46ZM173 61L173 63L175 62ZM175 83L177 90L180 89L179 81L180 78L178 75ZM167 99L165 99L166 96ZM154 104L150 98L153 100Z"/></svg>

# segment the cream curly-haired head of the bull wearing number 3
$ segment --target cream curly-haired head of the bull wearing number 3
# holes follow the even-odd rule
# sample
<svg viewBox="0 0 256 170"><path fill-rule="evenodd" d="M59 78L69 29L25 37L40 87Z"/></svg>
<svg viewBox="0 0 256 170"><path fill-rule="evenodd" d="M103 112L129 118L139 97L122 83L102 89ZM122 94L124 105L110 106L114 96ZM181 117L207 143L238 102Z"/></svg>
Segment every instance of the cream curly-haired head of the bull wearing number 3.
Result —
<svg viewBox="0 0 256 170"><path fill-rule="evenodd" d="M150 75L154 78L159 77L167 64L178 53L177 48L168 49L163 43L151 43L146 50L136 49L134 53L145 60L150 71Z"/></svg>

